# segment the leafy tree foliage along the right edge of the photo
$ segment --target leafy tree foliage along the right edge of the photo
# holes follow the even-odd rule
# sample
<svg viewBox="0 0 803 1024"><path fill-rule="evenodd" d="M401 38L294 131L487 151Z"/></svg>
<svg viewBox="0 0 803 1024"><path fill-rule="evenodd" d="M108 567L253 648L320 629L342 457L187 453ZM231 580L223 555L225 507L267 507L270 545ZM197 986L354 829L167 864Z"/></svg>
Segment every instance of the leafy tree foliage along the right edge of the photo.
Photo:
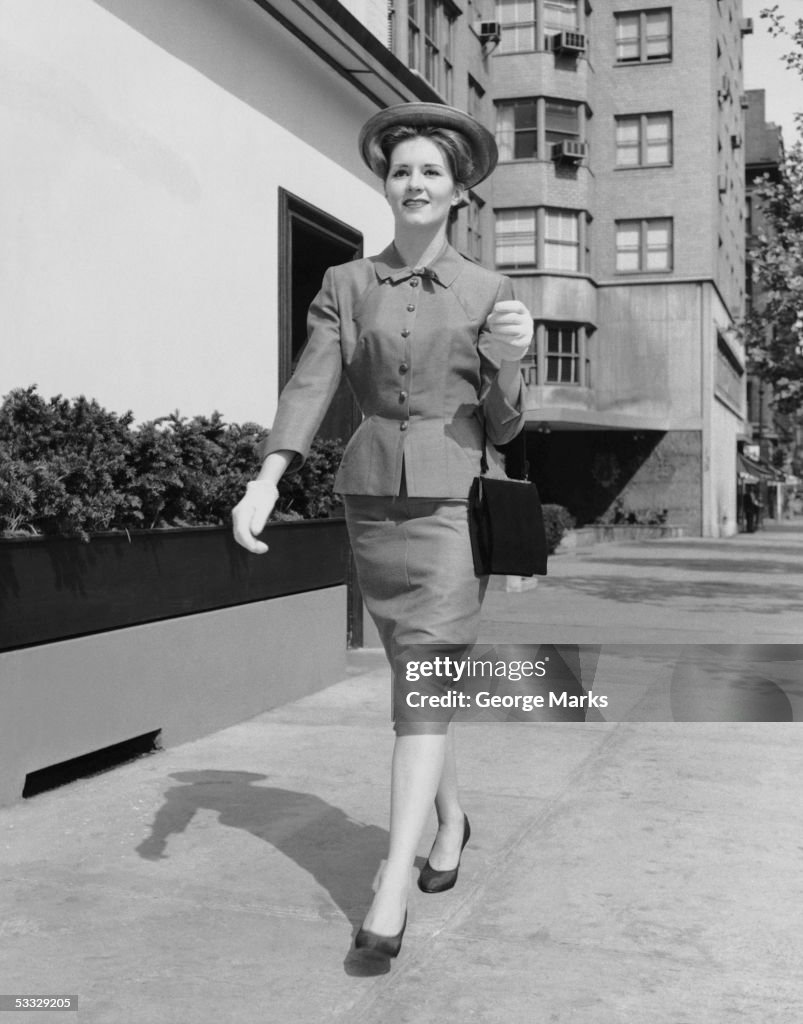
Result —
<svg viewBox="0 0 803 1024"><path fill-rule="evenodd" d="M793 44L787 67L803 79L803 17L793 28L778 4L761 11L770 34ZM781 413L803 409L803 113L796 115L798 138L775 179L758 182L754 199L765 228L750 249L758 301L743 323L750 369L772 385Z"/></svg>

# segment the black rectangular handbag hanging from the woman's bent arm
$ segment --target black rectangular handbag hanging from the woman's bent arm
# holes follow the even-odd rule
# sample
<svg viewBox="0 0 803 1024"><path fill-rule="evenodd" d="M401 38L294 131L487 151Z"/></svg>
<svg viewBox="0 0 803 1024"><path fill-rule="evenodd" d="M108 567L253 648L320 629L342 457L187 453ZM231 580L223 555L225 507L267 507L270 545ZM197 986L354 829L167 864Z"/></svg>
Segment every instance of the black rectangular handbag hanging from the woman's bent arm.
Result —
<svg viewBox="0 0 803 1024"><path fill-rule="evenodd" d="M523 455L523 430L519 437ZM523 458L521 462L523 465ZM535 483L488 477L484 447L480 473L474 477L468 496L474 572L477 575L546 575L547 538Z"/></svg>

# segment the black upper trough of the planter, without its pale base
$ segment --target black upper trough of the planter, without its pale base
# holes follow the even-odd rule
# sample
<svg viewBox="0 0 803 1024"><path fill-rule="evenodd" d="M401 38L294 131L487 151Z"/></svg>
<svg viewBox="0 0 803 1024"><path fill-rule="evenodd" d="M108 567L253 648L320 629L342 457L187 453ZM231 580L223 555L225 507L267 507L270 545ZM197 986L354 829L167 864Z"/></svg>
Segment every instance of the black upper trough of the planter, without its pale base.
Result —
<svg viewBox="0 0 803 1024"><path fill-rule="evenodd" d="M225 526L0 541L0 650L345 583L343 519L271 523L263 540L261 556Z"/></svg>

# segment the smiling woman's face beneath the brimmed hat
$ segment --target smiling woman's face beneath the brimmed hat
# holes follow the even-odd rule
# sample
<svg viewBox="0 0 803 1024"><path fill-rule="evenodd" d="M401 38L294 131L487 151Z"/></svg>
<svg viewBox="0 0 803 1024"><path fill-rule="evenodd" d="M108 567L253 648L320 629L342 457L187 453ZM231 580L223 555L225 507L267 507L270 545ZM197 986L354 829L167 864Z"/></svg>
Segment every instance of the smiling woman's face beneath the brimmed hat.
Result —
<svg viewBox="0 0 803 1024"><path fill-rule="evenodd" d="M393 147L385 196L397 227L432 227L446 223L461 189L440 148L417 136Z"/></svg>

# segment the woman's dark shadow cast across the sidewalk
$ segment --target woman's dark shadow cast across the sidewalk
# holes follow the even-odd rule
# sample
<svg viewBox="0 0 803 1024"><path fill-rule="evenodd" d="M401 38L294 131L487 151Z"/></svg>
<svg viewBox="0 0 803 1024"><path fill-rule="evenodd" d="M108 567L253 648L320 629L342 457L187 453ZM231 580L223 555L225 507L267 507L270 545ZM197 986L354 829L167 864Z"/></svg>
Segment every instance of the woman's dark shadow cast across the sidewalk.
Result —
<svg viewBox="0 0 803 1024"><path fill-rule="evenodd" d="M180 784L165 792L151 835L136 848L140 857L166 858L169 837L184 831L197 811L213 811L222 825L251 833L311 874L350 922L353 939L368 906L367 879L387 852L386 829L355 821L312 794L258 785L267 776L256 772L181 771L170 777ZM389 964L349 950L344 969L356 976L385 974Z"/></svg>

